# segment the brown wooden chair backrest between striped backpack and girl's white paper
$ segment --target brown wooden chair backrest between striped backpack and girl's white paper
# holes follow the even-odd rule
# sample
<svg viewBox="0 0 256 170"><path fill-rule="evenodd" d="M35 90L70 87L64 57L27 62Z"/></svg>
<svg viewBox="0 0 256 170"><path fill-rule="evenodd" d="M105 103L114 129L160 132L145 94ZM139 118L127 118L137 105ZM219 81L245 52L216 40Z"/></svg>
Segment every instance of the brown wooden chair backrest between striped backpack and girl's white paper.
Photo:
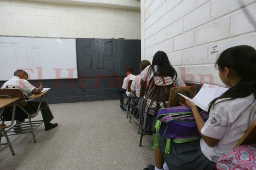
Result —
<svg viewBox="0 0 256 170"><path fill-rule="evenodd" d="M178 93L188 96L192 99L196 94L196 85L171 88L168 104L169 108L178 105L186 105L186 99L180 97Z"/></svg>

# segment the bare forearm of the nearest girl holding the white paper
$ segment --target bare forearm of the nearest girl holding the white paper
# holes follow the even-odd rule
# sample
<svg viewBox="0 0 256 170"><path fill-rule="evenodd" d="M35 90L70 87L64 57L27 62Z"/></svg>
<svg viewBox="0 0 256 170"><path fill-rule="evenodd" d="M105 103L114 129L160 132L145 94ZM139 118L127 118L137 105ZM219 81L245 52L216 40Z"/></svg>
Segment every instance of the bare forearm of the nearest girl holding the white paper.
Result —
<svg viewBox="0 0 256 170"><path fill-rule="evenodd" d="M201 133L201 129L204 127L204 120L201 117L201 115L198 112L198 109L196 107L196 105L191 102L189 99L186 99L186 104L191 108L194 118L195 118L195 122L196 122L196 126L198 128L198 132L200 133L200 135L202 136L202 138L204 139L204 142L209 146L209 147L215 147L218 142L220 141L220 139L215 139L209 136L205 136Z"/></svg>

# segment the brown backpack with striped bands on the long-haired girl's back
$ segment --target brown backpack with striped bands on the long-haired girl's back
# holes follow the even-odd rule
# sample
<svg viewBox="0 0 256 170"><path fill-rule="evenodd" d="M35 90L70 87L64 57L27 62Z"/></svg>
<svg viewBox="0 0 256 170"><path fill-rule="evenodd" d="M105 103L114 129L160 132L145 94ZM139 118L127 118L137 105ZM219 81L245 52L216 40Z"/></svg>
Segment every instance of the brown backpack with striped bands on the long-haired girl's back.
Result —
<svg viewBox="0 0 256 170"><path fill-rule="evenodd" d="M143 109L155 116L160 108L168 107L169 93L174 83L172 77L158 74L154 75L148 84Z"/></svg>

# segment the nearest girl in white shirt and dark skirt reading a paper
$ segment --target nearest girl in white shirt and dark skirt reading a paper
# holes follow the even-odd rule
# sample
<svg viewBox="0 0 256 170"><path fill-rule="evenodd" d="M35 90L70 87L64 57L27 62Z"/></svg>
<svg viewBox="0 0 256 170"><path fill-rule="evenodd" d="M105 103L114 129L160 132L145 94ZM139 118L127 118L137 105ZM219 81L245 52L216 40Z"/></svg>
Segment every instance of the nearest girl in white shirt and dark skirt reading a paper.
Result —
<svg viewBox="0 0 256 170"><path fill-rule="evenodd" d="M165 154L165 143L158 140L170 170L215 169L217 160L232 150L256 121L256 50L247 45L228 48L216 66L221 81L230 88L210 103L206 123L196 105L186 100L202 136L200 142L172 143L171 152Z"/></svg>

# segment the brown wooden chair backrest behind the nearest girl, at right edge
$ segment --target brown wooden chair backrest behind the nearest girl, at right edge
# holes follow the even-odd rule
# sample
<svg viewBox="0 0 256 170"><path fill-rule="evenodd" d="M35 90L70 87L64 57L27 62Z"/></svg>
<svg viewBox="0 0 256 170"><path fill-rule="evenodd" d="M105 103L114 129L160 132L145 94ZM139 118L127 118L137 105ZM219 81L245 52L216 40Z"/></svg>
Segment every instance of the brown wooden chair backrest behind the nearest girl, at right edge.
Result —
<svg viewBox="0 0 256 170"><path fill-rule="evenodd" d="M237 142L235 147L251 143L256 143L256 121L244 133L244 136L242 136L242 138Z"/></svg>

